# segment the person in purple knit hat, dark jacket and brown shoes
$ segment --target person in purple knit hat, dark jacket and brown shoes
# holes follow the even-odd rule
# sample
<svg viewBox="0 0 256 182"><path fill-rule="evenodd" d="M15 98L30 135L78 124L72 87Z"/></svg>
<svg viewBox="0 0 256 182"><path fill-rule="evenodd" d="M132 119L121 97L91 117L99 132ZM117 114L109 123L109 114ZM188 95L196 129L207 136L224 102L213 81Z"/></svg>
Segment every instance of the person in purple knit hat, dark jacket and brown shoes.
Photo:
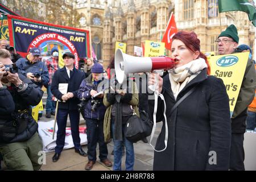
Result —
<svg viewBox="0 0 256 182"><path fill-rule="evenodd" d="M86 134L88 140L88 163L85 166L86 170L93 168L96 162L96 147L97 143L100 146L100 160L105 166L110 167L112 163L108 159L108 147L104 142L103 121L106 107L103 105L103 92L97 97L94 97L98 92L104 89L104 69L101 64L96 63L91 69L90 74L82 81L77 97L80 100L85 100L84 115L86 120Z"/></svg>

